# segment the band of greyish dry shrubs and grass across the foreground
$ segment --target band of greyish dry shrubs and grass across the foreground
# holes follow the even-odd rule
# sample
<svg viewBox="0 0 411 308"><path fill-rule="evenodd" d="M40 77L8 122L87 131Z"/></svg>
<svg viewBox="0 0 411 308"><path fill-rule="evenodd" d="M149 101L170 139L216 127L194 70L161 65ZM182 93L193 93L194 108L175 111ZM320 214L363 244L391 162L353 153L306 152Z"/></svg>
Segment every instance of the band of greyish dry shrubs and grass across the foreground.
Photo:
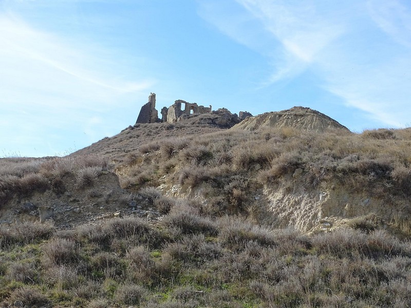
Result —
<svg viewBox="0 0 411 308"><path fill-rule="evenodd" d="M158 229L115 219L54 233L45 243L39 236L2 252L3 306L351 307L410 300L410 243L378 223L367 233L305 236L235 216L215 221L178 204Z"/></svg>

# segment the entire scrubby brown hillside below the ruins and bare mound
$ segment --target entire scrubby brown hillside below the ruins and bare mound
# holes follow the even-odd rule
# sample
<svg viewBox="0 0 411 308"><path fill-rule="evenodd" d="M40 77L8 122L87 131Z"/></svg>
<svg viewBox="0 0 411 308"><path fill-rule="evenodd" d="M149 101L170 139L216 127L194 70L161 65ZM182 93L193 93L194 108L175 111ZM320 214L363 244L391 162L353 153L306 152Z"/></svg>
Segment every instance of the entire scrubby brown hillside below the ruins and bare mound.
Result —
<svg viewBox="0 0 411 308"><path fill-rule="evenodd" d="M0 160L0 306L411 304L410 129L214 115Z"/></svg>

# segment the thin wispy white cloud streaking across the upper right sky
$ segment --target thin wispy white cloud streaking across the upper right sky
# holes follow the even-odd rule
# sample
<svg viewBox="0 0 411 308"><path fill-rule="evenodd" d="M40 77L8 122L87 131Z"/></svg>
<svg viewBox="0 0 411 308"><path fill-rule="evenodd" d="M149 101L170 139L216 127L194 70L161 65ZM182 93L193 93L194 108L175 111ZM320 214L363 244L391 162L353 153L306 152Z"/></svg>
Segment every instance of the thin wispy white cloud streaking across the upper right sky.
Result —
<svg viewBox="0 0 411 308"><path fill-rule="evenodd" d="M270 33L270 40L276 44L265 47L273 52L259 50L273 69L264 86L293 79L309 68L323 80L321 87L338 95L346 105L366 111L371 118L389 126L409 124L411 15L406 2L235 0L235 3L244 9L240 17L230 14L237 31L221 22L215 13L220 10L217 5L208 11L203 6L202 14L246 46L254 46L253 42L265 39L267 32ZM248 25L253 25L255 35L249 40L240 30L244 27L242 21L251 17L255 21ZM258 35L263 31L261 28L265 37Z"/></svg>

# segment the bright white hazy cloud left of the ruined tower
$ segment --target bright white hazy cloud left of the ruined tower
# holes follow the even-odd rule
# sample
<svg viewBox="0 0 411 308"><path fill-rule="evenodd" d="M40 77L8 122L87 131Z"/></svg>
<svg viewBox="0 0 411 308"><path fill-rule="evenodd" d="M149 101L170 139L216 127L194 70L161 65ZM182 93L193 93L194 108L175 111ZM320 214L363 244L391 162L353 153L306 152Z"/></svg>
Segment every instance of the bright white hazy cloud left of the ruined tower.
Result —
<svg viewBox="0 0 411 308"><path fill-rule="evenodd" d="M118 124L109 121L116 108L145 97L155 83L124 78L126 67L116 61L121 55L35 29L13 14L0 12L0 42L0 129L10 132L0 144L12 152L43 144L49 151L39 156L53 155L69 134L78 134L80 144L96 141Z"/></svg>

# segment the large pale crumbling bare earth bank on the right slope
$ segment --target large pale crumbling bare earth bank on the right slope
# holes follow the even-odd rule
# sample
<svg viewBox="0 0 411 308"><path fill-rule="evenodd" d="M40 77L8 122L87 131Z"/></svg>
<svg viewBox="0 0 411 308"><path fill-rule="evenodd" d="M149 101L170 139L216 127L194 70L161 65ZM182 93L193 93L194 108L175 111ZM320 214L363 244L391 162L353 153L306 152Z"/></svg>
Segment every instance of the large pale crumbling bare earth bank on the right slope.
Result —
<svg viewBox="0 0 411 308"><path fill-rule="evenodd" d="M280 228L293 226L307 232L331 228L335 223L371 213L386 221L409 215L409 204L401 198L392 198L387 203L367 192L349 191L337 183L329 183L323 189L307 189L302 182L294 181L293 186L266 186L264 194L272 213L266 217L267 223Z"/></svg>

